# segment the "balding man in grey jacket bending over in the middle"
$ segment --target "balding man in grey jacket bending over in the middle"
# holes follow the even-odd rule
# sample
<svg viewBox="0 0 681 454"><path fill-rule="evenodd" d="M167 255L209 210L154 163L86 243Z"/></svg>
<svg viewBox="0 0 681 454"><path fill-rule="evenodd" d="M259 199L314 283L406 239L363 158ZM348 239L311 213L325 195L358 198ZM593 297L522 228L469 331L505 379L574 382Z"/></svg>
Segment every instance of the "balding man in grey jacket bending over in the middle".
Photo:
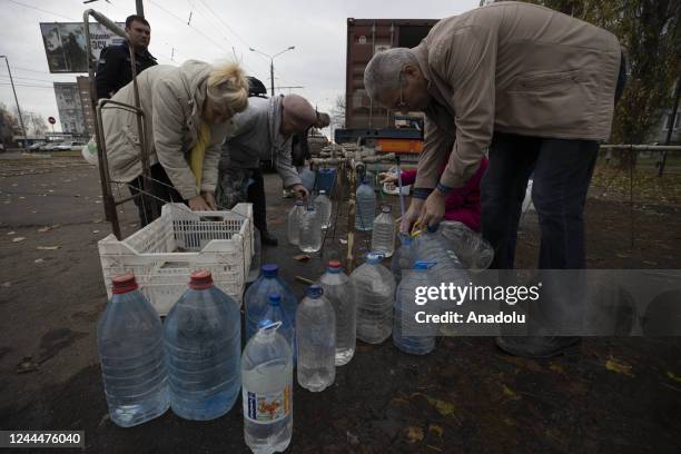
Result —
<svg viewBox="0 0 681 454"><path fill-rule="evenodd" d="M250 98L248 108L233 119L234 128L223 146L217 199L226 207L238 201L250 201L254 224L260 230L265 245L276 246L278 241L267 231L260 160L272 160L284 187L298 197L307 198L307 189L292 164L292 137L316 122L316 110L298 95Z"/></svg>

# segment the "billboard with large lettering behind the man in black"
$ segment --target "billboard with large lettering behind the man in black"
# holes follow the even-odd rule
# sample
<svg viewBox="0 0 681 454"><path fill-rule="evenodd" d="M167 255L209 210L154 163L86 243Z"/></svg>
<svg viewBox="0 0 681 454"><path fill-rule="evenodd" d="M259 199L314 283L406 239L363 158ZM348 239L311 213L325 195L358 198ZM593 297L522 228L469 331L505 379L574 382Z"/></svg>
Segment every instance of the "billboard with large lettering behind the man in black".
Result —
<svg viewBox="0 0 681 454"><path fill-rule="evenodd" d="M90 24L92 58L99 60L101 49L120 45L124 39L97 22ZM120 28L125 23L117 22ZM50 72L88 72L86 37L82 22L40 23L42 42Z"/></svg>

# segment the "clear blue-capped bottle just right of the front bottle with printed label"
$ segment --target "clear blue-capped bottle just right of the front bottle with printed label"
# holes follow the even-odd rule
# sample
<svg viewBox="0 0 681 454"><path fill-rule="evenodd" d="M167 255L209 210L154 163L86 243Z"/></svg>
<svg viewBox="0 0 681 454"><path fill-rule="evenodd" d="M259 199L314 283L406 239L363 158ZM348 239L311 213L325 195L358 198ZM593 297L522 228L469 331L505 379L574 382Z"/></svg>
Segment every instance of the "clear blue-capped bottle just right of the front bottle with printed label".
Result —
<svg viewBox="0 0 681 454"><path fill-rule="evenodd" d="M322 287L307 288L296 315L298 384L319 392L336 379L336 314Z"/></svg>

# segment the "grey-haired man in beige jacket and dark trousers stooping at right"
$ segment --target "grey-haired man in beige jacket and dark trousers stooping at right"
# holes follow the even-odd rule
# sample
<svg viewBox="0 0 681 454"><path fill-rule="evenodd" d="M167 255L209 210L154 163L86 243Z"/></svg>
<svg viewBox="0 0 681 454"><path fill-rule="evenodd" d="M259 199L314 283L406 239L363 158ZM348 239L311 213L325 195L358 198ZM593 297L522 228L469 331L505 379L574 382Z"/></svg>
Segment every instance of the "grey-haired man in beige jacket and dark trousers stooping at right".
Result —
<svg viewBox="0 0 681 454"><path fill-rule="evenodd" d="M374 56L372 99L426 115L424 150L403 229L442 219L444 200L480 167L482 230L492 268L513 268L527 180L541 227L540 268L583 268L583 208L599 142L610 135L622 50L610 32L551 9L493 3L445 18L413 49ZM447 155L444 172L440 169ZM576 338L509 340L524 356L551 356ZM502 339L503 340L503 339Z"/></svg>

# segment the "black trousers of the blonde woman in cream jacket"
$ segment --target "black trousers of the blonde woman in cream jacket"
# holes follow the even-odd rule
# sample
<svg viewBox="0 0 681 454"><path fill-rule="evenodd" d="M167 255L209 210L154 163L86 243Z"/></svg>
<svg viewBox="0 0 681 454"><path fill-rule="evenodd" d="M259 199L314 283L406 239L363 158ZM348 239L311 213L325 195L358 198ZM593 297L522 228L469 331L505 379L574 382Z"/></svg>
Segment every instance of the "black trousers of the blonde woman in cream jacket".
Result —
<svg viewBox="0 0 681 454"><path fill-rule="evenodd" d="M160 164L155 164L149 168L150 177L145 181L145 193L135 197L135 205L139 211L139 221L141 227L158 218L161 213L161 207L168 201L184 203L182 197L172 187L168 174ZM130 194L137 195L142 185L142 176L130 181Z"/></svg>

